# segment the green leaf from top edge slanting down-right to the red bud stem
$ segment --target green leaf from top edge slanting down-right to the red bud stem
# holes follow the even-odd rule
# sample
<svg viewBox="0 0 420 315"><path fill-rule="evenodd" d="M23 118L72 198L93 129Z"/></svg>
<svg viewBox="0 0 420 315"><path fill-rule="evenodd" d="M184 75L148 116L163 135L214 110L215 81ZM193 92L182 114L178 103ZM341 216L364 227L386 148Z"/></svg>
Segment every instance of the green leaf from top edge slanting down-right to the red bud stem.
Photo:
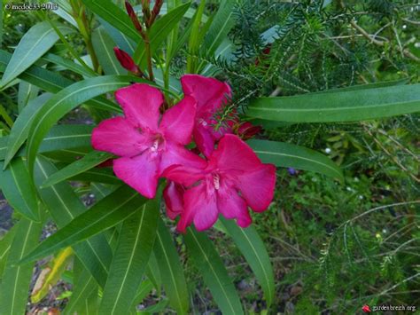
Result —
<svg viewBox="0 0 420 315"><path fill-rule="evenodd" d="M128 35L136 43L142 41L142 37L138 34L133 23L128 18L128 14L121 8L113 4L110 0L82 0L91 12L97 14L100 18L111 24L114 28L121 31L122 34Z"/></svg>

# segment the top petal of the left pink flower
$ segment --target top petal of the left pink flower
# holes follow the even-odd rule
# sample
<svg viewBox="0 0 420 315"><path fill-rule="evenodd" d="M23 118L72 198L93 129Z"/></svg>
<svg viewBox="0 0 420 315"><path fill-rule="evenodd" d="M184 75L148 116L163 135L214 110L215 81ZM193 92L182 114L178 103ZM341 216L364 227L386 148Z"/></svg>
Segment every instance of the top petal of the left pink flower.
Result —
<svg viewBox="0 0 420 315"><path fill-rule="evenodd" d="M135 83L115 92L126 118L136 127L158 129L159 106L163 103L162 93L144 83Z"/></svg>

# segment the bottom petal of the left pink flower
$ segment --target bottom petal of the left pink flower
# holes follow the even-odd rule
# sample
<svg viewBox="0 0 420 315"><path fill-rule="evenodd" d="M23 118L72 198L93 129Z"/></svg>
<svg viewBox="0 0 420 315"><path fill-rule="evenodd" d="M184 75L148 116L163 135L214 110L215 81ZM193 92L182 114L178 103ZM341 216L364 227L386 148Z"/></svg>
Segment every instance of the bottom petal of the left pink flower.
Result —
<svg viewBox="0 0 420 315"><path fill-rule="evenodd" d="M158 187L159 155L144 152L133 158L122 157L113 161L113 171L126 184L147 198L154 198Z"/></svg>

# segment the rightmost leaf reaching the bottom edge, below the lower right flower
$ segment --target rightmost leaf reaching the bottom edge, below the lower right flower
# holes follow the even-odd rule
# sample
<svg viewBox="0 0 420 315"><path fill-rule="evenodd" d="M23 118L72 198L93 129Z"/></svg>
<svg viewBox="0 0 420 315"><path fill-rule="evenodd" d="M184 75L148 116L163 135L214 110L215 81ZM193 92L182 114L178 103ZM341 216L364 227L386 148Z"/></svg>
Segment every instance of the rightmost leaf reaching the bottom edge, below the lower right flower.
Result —
<svg viewBox="0 0 420 315"><path fill-rule="evenodd" d="M189 228L185 236L188 251L223 314L244 314L237 290L222 259L205 233Z"/></svg>

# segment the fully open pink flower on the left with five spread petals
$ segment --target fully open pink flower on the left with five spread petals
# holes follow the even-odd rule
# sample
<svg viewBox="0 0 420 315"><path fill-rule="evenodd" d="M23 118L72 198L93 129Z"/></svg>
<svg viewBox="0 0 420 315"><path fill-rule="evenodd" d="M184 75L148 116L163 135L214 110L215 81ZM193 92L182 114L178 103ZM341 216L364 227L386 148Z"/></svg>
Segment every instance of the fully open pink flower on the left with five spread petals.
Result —
<svg viewBox="0 0 420 315"><path fill-rule="evenodd" d="M186 96L160 117L162 93L147 84L115 92L124 117L107 119L92 133L92 146L120 156L115 175L147 198L154 198L158 179L167 167L202 167L206 162L184 146L191 141L196 101Z"/></svg>

